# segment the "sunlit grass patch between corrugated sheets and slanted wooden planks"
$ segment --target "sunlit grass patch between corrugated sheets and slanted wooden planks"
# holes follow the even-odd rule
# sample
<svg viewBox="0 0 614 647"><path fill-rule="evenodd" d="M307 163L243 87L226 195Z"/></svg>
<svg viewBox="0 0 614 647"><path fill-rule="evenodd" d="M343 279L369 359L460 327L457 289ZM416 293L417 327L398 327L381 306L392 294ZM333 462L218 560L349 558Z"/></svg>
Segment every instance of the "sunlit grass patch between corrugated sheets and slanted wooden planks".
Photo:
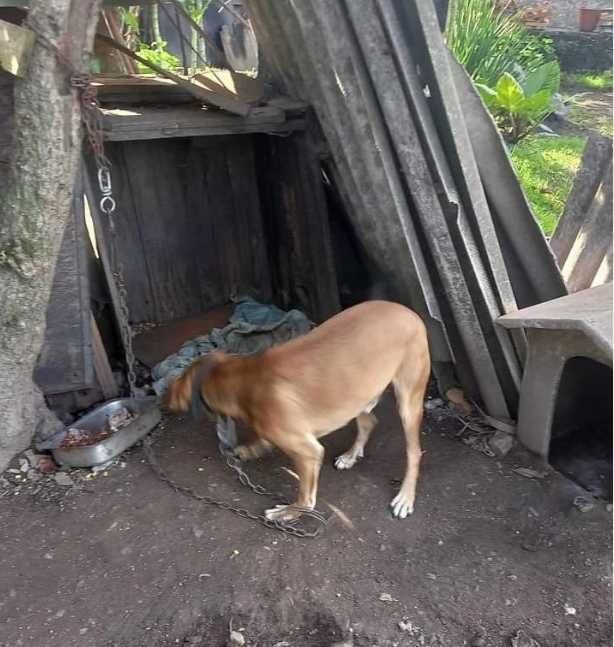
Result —
<svg viewBox="0 0 614 647"><path fill-rule="evenodd" d="M546 236L563 213L585 144L585 137L532 135L512 149L516 175Z"/></svg>

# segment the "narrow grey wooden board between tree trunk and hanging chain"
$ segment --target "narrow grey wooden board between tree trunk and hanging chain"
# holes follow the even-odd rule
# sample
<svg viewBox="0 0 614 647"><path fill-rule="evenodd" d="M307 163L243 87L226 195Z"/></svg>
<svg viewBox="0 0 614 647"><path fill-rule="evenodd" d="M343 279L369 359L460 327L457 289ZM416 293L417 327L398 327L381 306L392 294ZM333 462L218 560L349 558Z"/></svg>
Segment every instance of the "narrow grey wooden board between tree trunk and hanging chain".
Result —
<svg viewBox="0 0 614 647"><path fill-rule="evenodd" d="M34 370L34 380L45 395L96 384L81 186L79 177L55 268L43 348Z"/></svg>

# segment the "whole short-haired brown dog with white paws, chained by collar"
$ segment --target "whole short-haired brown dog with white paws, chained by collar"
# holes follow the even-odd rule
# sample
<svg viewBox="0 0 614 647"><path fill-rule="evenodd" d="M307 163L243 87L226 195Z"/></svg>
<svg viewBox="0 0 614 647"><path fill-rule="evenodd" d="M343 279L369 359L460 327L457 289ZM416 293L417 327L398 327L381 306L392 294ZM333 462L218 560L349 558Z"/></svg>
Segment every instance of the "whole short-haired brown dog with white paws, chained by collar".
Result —
<svg viewBox="0 0 614 647"><path fill-rule="evenodd" d="M170 385L165 402L173 411L187 411L196 398L210 412L247 424L254 438L237 447L242 459L271 446L289 456L300 480L298 499L266 511L269 519L289 521L315 506L324 456L318 438L356 418L354 444L335 461L338 469L351 468L377 422L371 411L392 383L407 470L390 505L396 517L405 518L414 509L429 375L426 329L418 315L397 303L367 301L262 354L207 355Z"/></svg>

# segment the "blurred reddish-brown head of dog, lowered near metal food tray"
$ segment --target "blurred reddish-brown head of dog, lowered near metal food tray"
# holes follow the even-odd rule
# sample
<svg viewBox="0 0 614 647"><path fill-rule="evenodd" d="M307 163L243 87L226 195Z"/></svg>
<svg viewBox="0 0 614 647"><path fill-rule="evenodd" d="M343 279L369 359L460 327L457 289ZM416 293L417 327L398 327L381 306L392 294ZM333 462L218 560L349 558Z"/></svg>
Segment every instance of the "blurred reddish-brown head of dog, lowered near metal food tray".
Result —
<svg viewBox="0 0 614 647"><path fill-rule="evenodd" d="M203 413L214 417L215 412L208 404L203 393L203 385L211 372L224 360L223 353L209 353L196 360L183 374L172 382L162 404L171 411L192 411L196 418Z"/></svg>

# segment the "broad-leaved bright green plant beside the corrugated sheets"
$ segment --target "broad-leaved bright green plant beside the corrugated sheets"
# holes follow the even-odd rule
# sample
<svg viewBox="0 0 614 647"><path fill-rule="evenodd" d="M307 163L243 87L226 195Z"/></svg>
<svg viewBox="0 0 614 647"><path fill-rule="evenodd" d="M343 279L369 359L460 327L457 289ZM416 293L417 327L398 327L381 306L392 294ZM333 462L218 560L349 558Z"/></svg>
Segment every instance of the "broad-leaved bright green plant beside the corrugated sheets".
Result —
<svg viewBox="0 0 614 647"><path fill-rule="evenodd" d="M494 88L476 84L503 136L512 143L526 137L554 112L561 85L561 70L556 61L544 63L531 72L516 67L515 73L516 78L504 72Z"/></svg>

